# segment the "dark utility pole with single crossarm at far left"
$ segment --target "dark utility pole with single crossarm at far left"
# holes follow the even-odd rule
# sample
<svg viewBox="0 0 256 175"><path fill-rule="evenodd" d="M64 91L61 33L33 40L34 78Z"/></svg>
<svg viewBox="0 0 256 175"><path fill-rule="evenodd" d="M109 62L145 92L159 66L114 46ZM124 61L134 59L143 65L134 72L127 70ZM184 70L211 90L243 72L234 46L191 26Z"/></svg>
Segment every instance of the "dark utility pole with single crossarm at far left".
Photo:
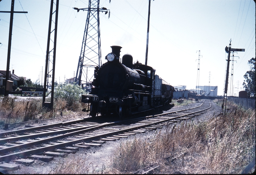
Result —
<svg viewBox="0 0 256 175"><path fill-rule="evenodd" d="M7 90L6 87L7 87L7 81L9 80L9 69L10 69L10 59L11 59L13 13L28 13L28 12L15 12L14 11L14 0L12 0L11 11L0 11L0 12L11 13L10 27L9 27L8 51L7 51L7 64L6 64L6 73L5 73L5 88L4 88L4 96L6 97L9 95L9 90Z"/></svg>

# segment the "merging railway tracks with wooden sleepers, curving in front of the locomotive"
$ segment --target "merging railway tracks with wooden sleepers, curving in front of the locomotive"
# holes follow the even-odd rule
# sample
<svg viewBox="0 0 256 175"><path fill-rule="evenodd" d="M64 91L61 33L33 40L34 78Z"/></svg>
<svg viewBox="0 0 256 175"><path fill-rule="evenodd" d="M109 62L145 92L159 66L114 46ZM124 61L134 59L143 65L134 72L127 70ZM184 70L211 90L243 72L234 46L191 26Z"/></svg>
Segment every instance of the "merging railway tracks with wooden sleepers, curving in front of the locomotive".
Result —
<svg viewBox="0 0 256 175"><path fill-rule="evenodd" d="M98 123L85 118L1 132L0 171L15 171L19 164L29 165L35 160L49 162L54 156L74 154L79 148L100 147L106 141L156 130L200 115L210 107L210 100L204 100L197 107L122 121Z"/></svg>

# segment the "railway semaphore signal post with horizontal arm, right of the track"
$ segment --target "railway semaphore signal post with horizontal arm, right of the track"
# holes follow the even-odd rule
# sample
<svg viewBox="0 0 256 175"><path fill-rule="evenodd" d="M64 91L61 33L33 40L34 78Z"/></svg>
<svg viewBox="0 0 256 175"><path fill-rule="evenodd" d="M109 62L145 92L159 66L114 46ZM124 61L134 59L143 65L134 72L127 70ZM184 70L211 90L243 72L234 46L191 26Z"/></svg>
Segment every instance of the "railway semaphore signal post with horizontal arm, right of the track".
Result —
<svg viewBox="0 0 256 175"><path fill-rule="evenodd" d="M223 99L222 99L222 105L221 105L221 111L222 111L222 114L223 114L223 110L224 110L224 102L225 102L225 111L224 111L224 115L226 114L226 106L227 106L227 92L228 92L228 74L229 74L229 61L230 61L230 52L235 52L235 51L238 51L238 52L244 52L245 49L234 49L234 48L231 48L231 38L230 38L230 41L229 41L229 47L226 46L225 48L225 51L228 53L228 63L227 63L227 71L226 71L226 80L225 80L225 89L224 89L224 94L223 94Z"/></svg>

